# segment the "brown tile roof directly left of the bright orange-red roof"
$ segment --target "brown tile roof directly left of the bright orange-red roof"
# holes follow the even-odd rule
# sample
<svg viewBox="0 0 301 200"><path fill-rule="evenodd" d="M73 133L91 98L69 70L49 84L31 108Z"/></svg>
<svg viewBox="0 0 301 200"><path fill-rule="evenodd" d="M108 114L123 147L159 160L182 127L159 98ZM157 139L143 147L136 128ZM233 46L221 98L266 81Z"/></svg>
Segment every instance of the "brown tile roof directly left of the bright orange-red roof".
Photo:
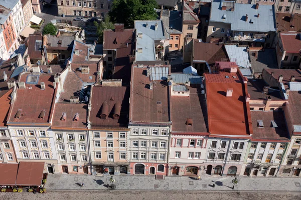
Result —
<svg viewBox="0 0 301 200"><path fill-rule="evenodd" d="M189 96L172 96L173 133L208 132L207 107L205 95L200 85L189 86ZM192 119L192 125L187 120Z"/></svg>

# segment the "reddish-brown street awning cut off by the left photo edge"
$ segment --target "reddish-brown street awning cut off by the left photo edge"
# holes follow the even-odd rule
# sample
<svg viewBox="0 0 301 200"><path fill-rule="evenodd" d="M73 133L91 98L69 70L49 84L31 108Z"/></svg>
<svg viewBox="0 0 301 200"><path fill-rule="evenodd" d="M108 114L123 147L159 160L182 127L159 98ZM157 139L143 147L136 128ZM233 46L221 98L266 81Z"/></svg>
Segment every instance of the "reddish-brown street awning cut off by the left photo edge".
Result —
<svg viewBox="0 0 301 200"><path fill-rule="evenodd" d="M0 185L15 185L18 172L18 163L0 164Z"/></svg>

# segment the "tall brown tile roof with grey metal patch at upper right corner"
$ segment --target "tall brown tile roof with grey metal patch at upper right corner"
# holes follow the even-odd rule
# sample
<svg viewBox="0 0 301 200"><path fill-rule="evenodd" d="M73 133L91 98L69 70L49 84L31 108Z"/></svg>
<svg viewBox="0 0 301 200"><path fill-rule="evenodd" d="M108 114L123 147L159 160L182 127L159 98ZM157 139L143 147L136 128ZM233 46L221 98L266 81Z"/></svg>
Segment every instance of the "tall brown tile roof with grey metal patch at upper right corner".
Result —
<svg viewBox="0 0 301 200"><path fill-rule="evenodd" d="M158 66L160 67L160 66ZM130 122L170 121L168 83L165 80L152 80L146 76L146 66L132 65L130 88ZM153 82L153 89L149 83ZM161 101L161 104L158 103Z"/></svg>

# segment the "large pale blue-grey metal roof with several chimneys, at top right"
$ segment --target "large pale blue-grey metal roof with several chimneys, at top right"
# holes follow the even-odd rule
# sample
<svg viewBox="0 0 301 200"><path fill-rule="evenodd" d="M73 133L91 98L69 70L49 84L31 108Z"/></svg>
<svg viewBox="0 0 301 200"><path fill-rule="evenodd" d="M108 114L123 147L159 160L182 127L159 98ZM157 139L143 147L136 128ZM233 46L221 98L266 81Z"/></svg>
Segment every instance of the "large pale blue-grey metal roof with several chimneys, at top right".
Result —
<svg viewBox="0 0 301 200"><path fill-rule="evenodd" d="M210 21L231 23L231 30L268 32L276 31L275 10L273 5L259 5L255 9L255 4L235 3L234 10L222 10L222 1L211 2ZM257 14L260 14L257 17ZM226 18L223 19L223 14ZM248 14L248 20L245 16ZM250 20L253 23L250 23Z"/></svg>

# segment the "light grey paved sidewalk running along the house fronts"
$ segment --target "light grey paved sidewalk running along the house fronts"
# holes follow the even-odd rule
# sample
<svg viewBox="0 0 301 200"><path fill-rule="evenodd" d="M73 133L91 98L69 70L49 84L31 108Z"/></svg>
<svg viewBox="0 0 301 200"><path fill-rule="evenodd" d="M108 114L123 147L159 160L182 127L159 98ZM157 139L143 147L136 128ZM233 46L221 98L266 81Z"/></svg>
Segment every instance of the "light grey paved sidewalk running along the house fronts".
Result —
<svg viewBox="0 0 301 200"><path fill-rule="evenodd" d="M47 190L109 190L110 176L94 175L48 175ZM233 177L204 177L202 180L187 176L166 176L165 180L155 176L114 176L116 190L217 190L233 191ZM80 183L84 181L85 186ZM215 183L215 187L212 184ZM299 177L238 177L236 191L301 191Z"/></svg>

